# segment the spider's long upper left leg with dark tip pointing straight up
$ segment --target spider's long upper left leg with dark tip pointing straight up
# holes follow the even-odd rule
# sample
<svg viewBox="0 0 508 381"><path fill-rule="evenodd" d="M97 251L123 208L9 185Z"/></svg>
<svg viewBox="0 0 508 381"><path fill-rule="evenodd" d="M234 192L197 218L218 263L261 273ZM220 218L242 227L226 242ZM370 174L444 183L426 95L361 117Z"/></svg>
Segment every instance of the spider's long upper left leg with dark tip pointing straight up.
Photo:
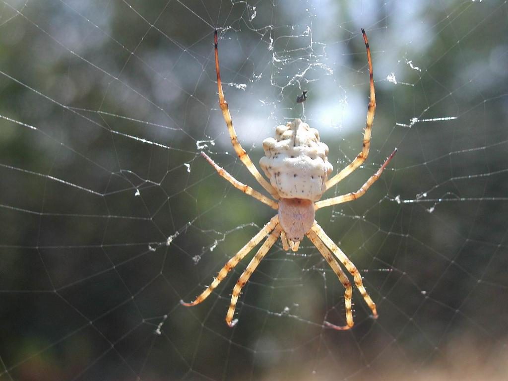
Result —
<svg viewBox="0 0 508 381"><path fill-rule="evenodd" d="M223 113L224 120L226 121L226 125L228 126L228 132L231 137L231 144L235 149L236 154L240 158L241 162L247 167L249 172L256 178L256 180L261 184L263 188L265 188L270 195L276 200L279 199L277 194L277 190L261 175L258 171L258 168L252 163L249 155L242 148L240 142L238 141L238 136L236 135L235 128L233 127L233 119L231 118L231 113L229 112L228 102L224 99L224 91L222 87L222 81L220 80L220 69L219 69L219 53L217 48L217 30L214 33L214 45L215 45L215 71L217 72L217 87L219 92L219 106L220 110Z"/></svg>

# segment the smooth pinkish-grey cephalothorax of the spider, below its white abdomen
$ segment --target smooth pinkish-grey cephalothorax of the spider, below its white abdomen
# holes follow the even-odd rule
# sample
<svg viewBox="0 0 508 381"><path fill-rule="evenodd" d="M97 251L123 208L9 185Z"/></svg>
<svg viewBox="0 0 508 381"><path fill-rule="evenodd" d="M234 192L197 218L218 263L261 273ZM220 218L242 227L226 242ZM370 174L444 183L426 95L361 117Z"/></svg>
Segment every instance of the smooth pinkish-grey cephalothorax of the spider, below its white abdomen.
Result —
<svg viewBox="0 0 508 381"><path fill-rule="evenodd" d="M285 235L300 242L314 223L314 203L305 199L281 199L279 223Z"/></svg>

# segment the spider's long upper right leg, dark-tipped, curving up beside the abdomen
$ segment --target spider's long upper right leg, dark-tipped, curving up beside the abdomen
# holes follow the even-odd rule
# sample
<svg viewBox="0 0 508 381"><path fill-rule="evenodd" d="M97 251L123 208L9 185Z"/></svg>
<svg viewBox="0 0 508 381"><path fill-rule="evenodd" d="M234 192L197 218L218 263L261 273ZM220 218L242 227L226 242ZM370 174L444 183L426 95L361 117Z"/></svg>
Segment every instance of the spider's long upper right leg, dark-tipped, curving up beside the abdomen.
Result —
<svg viewBox="0 0 508 381"><path fill-rule="evenodd" d="M365 42L365 47L367 48L367 61L369 65L369 76L370 76L370 101L367 109L367 121L365 123L365 132L363 133L362 151L358 154L358 156L356 156L355 160L353 160L353 162L351 162L350 165L345 167L342 171L337 173L335 176L333 176L326 182L327 189L330 189L344 177L350 175L355 169L360 167L363 164L363 162L365 162L367 156L369 155L370 133L372 131L372 122L374 121L374 113L376 111L376 96L374 93L374 78L372 76L372 59L370 57L369 40L367 39L367 35L365 34L365 30L363 29L362 35L363 41Z"/></svg>

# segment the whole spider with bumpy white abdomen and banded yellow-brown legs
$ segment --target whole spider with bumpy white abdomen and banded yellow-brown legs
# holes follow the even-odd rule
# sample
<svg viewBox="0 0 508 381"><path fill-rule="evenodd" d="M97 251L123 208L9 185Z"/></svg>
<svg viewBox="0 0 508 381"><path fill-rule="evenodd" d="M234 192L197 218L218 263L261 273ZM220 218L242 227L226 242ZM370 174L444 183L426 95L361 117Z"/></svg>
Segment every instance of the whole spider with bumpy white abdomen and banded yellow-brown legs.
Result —
<svg viewBox="0 0 508 381"><path fill-rule="evenodd" d="M344 252L333 242L333 240L328 237L325 231L314 219L315 210L317 209L356 200L357 198L363 196L367 189L379 178L392 157L395 155L395 152L397 152L397 149L395 149L377 172L372 175L356 192L320 201L326 190L330 189L344 177L350 175L353 171L360 167L362 163L365 162L369 153L370 133L372 129L372 121L374 119L376 102L370 48L364 29L362 29L362 35L367 49L367 60L370 75L370 102L367 110L367 121L363 135L362 151L347 167L342 169L332 178L328 179L328 176L333 170L332 165L328 162L328 146L325 143L320 142L319 132L316 129L311 129L307 123L302 122L300 119L295 119L286 125L279 125L276 128L275 138L267 138L263 141L263 149L266 156L261 158L260 166L265 175L270 179L270 182L268 182L261 175L256 166L250 160L248 154L240 145L235 129L233 128L233 121L228 109L228 103L224 99L224 91L220 80L217 30L215 30L215 71L217 73L219 105L228 127L231 143L240 158L240 161L276 201L236 180L223 168L219 167L206 153L202 152L201 154L206 158L208 163L215 168L218 174L228 180L235 188L240 189L243 193L252 196L271 208L278 210L278 213L272 217L268 224L266 224L258 234L252 237L252 239L248 241L245 246L243 246L236 255L224 265L208 288L193 302L185 303L180 301L180 303L184 306L195 306L204 301L226 277L226 275L247 255L247 253L256 247L265 237L268 237L240 275L235 287L233 288L231 304L226 314L226 323L230 327L235 326L238 319L233 319L233 317L240 292L245 283L248 281L250 275L252 275L261 260L265 257L268 250L280 237L284 250L291 249L293 251L297 251L300 241L304 236L307 236L307 238L315 245L317 250L321 252L345 288L344 304L346 325L336 326L329 322L325 322L325 325L336 330L347 330L352 328L354 325L352 310L353 286L345 272L340 267L339 262L353 276L357 289L360 291L365 303L372 311L372 317L377 319L376 305L370 298L367 290L365 290L362 282L362 276L356 266L346 257Z"/></svg>

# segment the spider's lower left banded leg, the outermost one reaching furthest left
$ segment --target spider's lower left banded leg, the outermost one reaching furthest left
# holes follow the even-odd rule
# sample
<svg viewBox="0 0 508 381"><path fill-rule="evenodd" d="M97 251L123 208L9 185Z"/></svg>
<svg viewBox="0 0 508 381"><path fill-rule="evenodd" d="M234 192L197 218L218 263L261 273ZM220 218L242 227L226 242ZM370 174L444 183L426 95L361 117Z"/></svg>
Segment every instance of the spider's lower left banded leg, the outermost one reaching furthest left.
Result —
<svg viewBox="0 0 508 381"><path fill-rule="evenodd" d="M223 268L220 269L217 277L213 279L213 282L208 286L208 288L203 291L195 300L191 303L185 303L183 300L180 300L180 304L183 304L186 307L195 306L196 304L201 303L203 300L208 298L208 296L212 293L213 290L219 285L219 283L228 275L228 273L233 270L233 268L238 265L238 263L248 254L250 250L252 250L258 243L260 243L263 238L265 238L278 224L279 218L278 215L272 217L269 223L264 226L263 229L260 230L258 234L252 237L250 241L248 241L245 246L243 246L240 251L236 253L236 255L231 258Z"/></svg>

